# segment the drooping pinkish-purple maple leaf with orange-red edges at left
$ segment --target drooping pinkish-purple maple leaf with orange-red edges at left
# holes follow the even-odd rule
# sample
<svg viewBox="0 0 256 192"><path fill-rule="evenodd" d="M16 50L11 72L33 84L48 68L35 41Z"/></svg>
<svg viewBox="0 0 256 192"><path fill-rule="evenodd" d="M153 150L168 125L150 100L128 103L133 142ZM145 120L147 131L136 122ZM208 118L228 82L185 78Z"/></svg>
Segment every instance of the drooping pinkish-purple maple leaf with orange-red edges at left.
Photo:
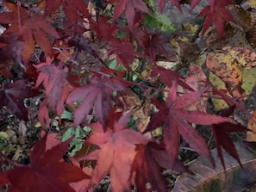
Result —
<svg viewBox="0 0 256 192"><path fill-rule="evenodd" d="M43 116L47 118L47 115L45 115L47 104L57 112L57 115L62 115L66 97L72 90L72 86L68 82L68 68L64 67L59 61L53 62L53 59L49 57L47 57L45 63L34 65L34 67L40 71L35 87L39 87L43 83L46 89L46 98L41 103L41 110L44 110Z"/></svg>

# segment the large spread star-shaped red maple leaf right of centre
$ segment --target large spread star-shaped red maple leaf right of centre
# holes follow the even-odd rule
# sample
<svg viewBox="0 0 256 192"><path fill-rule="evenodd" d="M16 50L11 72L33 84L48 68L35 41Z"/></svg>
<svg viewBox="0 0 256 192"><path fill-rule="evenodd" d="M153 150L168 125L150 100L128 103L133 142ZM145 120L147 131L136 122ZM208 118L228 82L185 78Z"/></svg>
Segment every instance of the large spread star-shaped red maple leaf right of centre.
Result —
<svg viewBox="0 0 256 192"><path fill-rule="evenodd" d="M205 158L208 158L212 164L215 164L205 140L188 122L202 125L212 125L222 122L235 124L235 121L227 117L184 110L184 108L197 102L198 98L208 89L209 87L206 87L202 90L184 94L183 96L177 96L176 83L174 82L169 90L165 103L157 100L153 101L156 107L159 108L159 112L153 115L147 130L153 130L153 128L159 127L165 122L165 147L172 166L178 156L179 134L186 140L191 148L195 149Z"/></svg>

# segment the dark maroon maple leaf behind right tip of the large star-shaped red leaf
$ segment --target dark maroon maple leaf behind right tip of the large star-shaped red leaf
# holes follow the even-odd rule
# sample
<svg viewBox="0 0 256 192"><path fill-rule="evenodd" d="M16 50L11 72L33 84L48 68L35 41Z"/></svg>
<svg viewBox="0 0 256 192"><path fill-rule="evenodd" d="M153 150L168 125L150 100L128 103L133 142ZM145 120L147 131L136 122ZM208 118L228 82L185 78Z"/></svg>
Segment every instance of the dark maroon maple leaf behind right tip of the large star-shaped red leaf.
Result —
<svg viewBox="0 0 256 192"><path fill-rule="evenodd" d="M219 115L222 115L224 117L228 117L230 115L232 115L234 113L234 106L230 107L230 108L225 108L222 109L219 112ZM234 159L236 159L238 161L238 163L241 165L240 163L240 158L238 156L238 153L235 149L233 140L229 138L229 133L234 133L234 132L244 132L244 131L249 131L249 129L247 127L243 127L240 124L233 124L233 123L229 123L229 122L223 122L223 123L219 123L219 124L213 124L212 125L212 131L215 137L215 145L218 151L218 156L221 159L222 162L222 166L225 170L225 162L224 162L224 158L223 158L223 154L222 154L222 148L228 152L228 154L230 156L232 156Z"/></svg>

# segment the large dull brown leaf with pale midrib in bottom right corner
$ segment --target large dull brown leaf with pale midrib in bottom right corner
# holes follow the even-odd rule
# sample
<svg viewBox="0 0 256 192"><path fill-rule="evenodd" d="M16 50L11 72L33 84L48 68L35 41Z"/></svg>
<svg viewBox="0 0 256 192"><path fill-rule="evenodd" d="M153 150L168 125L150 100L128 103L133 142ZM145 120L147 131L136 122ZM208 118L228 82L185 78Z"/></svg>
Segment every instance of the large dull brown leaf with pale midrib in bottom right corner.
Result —
<svg viewBox="0 0 256 192"><path fill-rule="evenodd" d="M217 157L216 149L214 149L212 154L215 158L215 169L209 165L205 158L197 158L189 165L194 175L189 173L181 175L172 192L246 191L256 181L256 152L253 150L255 144L249 146L247 143L237 143L235 147L239 153L242 168L227 152L223 152L227 165L227 169L224 171L220 159Z"/></svg>

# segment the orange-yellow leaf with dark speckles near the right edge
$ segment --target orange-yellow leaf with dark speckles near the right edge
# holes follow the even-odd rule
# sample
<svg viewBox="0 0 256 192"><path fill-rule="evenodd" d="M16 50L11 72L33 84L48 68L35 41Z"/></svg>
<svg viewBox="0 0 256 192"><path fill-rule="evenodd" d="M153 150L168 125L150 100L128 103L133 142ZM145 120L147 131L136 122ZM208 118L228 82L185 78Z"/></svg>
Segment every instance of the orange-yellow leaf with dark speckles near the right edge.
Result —
<svg viewBox="0 0 256 192"><path fill-rule="evenodd" d="M246 47L225 46L219 53L209 53L206 61L209 71L220 77L230 95L241 98L242 68L256 66L256 53Z"/></svg>

